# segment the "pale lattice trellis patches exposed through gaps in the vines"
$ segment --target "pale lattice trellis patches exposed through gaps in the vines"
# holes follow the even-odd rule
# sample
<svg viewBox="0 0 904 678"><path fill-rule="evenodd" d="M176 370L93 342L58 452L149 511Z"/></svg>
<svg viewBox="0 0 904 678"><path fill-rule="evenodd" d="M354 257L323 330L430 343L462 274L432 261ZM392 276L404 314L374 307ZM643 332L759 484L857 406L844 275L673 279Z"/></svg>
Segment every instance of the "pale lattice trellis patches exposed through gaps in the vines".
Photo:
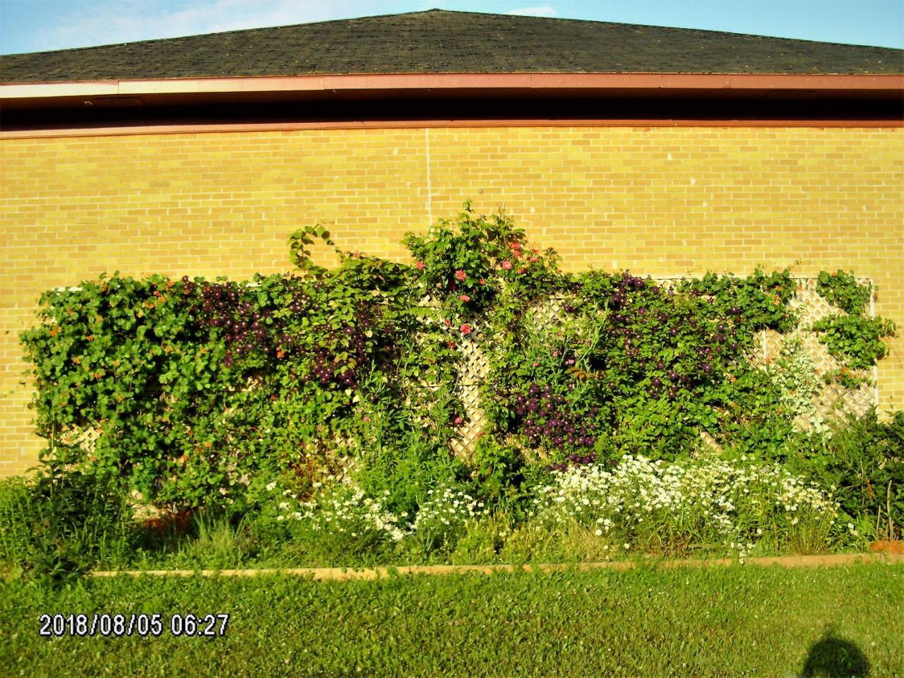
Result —
<svg viewBox="0 0 904 678"><path fill-rule="evenodd" d="M842 364L829 354L825 344L819 341L819 335L810 330L810 327L817 320L821 320L827 315L837 315L839 309L832 306L816 292L815 278L795 279L798 287L795 296L789 302L789 306L798 315L796 329L787 334L780 334L774 330L760 332L758 351L750 355L749 360L758 366L764 366L769 362L775 361L781 357L785 346L784 342L787 339L796 338L801 341L806 354L814 362L817 372L822 374L836 370L842 367ZM655 278L655 281L662 287L669 288L677 285L681 278ZM870 281L858 279L858 282L869 283ZM533 322L540 329L557 324L563 315L562 304L563 299L551 297L540 305L534 306L530 312ZM870 306L870 314L873 315L872 306ZM489 363L481 342L477 339L480 336L479 330L481 326L474 322L471 325L475 328L475 332L466 336L458 344L458 348L463 354L458 385L460 387L460 397L466 405L466 420L458 428L460 439L453 444L453 449L457 454L464 456L473 451L476 438L485 427L479 388L487 372L489 372ZM816 415L827 419L848 413L858 416L865 414L873 405L879 404L879 393L874 385L877 377L877 369L873 368L873 385L863 384L856 390L845 389L837 383L824 385L815 401ZM798 418L796 423L801 428L807 428L810 425L809 419L804 417ZM707 434L704 434L703 441L711 445L711 447L715 445L715 441L708 437Z"/></svg>

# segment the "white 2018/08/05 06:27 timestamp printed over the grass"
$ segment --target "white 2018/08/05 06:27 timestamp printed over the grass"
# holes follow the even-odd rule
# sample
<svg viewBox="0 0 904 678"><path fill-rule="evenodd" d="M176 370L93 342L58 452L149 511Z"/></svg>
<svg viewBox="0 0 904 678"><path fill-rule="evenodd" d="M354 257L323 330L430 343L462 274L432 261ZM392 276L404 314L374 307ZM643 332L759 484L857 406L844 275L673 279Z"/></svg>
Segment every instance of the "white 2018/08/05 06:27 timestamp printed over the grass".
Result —
<svg viewBox="0 0 904 678"><path fill-rule="evenodd" d="M226 635L228 614L172 615L160 614L42 614L38 617L38 635L46 637L77 636L173 636L216 637Z"/></svg>

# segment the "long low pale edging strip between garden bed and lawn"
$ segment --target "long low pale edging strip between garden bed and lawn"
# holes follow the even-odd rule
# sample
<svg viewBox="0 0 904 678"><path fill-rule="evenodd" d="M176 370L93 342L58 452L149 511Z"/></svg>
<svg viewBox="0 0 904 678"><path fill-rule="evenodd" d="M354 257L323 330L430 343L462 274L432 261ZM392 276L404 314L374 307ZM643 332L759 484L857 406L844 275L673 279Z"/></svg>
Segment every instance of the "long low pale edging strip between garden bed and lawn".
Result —
<svg viewBox="0 0 904 678"><path fill-rule="evenodd" d="M817 568L851 565L854 563L881 562L889 565L904 565L901 553L835 553L812 556L766 556L743 560L745 565L777 565L784 568ZM634 570L648 565L663 568L706 568L737 565L732 558L701 560L609 560L606 562L580 562L574 564L541 565L403 565L400 567L378 568L259 568L252 570L99 570L91 572L92 577L258 577L274 574L310 577L316 580L383 579L398 575L418 574L493 574L494 572L561 572L569 570Z"/></svg>

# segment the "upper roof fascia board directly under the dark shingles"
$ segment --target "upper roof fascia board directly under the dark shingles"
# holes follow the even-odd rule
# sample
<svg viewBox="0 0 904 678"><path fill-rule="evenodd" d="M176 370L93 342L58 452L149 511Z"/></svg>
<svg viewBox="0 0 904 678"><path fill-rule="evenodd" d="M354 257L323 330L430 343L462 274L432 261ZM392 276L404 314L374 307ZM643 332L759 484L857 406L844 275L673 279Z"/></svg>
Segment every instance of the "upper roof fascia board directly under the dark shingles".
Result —
<svg viewBox="0 0 904 678"><path fill-rule="evenodd" d="M98 80L0 84L0 99L363 89L904 90L904 75L756 73L380 73L266 78Z"/></svg>

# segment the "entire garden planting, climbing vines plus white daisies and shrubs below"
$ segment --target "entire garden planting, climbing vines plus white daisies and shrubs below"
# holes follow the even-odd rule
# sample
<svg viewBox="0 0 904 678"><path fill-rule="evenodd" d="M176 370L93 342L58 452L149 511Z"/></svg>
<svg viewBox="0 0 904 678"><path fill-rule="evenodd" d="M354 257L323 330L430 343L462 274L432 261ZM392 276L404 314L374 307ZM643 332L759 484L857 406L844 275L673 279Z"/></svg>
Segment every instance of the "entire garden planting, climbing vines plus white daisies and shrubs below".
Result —
<svg viewBox="0 0 904 678"><path fill-rule="evenodd" d="M899 538L904 413L815 407L824 381L869 381L895 332L852 274L818 278L839 313L808 329L843 365L819 374L794 339L749 359L758 333L798 325L788 270L565 274L467 203L405 244L411 262L392 262L308 227L293 274L113 274L43 295L22 341L48 445L36 478L0 485L0 561L59 580ZM315 265L324 247L337 268ZM478 349L484 430L457 455Z"/></svg>

